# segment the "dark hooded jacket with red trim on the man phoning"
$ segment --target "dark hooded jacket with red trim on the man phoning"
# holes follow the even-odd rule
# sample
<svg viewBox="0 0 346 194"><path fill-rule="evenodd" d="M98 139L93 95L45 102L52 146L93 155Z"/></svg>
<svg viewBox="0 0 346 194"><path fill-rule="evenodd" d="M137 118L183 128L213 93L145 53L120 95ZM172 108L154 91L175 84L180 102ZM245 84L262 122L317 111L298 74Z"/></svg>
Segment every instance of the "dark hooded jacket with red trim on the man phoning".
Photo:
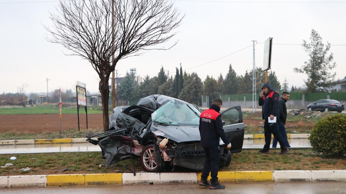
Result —
<svg viewBox="0 0 346 194"><path fill-rule="evenodd" d="M265 83L262 88L268 87L269 93L258 99L258 105L262 106L262 119L267 120L270 115L274 115L276 120L279 116L279 94L273 91L270 84Z"/></svg>

